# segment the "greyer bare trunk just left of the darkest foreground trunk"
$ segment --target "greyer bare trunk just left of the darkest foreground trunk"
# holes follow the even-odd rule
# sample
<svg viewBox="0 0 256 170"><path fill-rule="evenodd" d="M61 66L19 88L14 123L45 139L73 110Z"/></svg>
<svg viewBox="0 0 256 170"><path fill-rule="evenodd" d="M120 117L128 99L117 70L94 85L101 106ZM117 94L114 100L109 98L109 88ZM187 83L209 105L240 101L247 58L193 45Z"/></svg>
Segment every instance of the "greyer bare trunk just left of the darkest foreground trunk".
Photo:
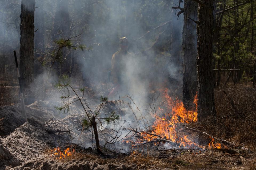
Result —
<svg viewBox="0 0 256 170"><path fill-rule="evenodd" d="M184 1L183 25L183 104L191 108L197 92L197 20L198 4ZM193 20L191 20L191 19Z"/></svg>

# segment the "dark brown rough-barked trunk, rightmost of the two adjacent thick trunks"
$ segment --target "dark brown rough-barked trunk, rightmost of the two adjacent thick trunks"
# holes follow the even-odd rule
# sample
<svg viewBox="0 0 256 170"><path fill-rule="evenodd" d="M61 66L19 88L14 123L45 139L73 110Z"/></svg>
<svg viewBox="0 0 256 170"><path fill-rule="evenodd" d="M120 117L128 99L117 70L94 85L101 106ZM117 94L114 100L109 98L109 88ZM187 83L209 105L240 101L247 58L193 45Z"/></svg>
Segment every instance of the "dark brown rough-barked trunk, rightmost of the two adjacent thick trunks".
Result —
<svg viewBox="0 0 256 170"><path fill-rule="evenodd" d="M199 121L216 115L212 73L213 2L214 0L204 0L203 4L198 6L197 89Z"/></svg>

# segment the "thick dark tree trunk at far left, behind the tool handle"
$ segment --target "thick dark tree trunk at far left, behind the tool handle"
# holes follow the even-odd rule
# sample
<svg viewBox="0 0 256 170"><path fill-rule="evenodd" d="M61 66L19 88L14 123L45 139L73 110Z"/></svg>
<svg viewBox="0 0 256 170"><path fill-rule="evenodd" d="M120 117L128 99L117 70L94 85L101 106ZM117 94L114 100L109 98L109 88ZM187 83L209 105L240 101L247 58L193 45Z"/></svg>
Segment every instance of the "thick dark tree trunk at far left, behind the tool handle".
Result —
<svg viewBox="0 0 256 170"><path fill-rule="evenodd" d="M21 2L21 39L20 39L20 75L22 89L28 94L34 77L34 13L35 0ZM33 103L33 94L29 94L27 104Z"/></svg>

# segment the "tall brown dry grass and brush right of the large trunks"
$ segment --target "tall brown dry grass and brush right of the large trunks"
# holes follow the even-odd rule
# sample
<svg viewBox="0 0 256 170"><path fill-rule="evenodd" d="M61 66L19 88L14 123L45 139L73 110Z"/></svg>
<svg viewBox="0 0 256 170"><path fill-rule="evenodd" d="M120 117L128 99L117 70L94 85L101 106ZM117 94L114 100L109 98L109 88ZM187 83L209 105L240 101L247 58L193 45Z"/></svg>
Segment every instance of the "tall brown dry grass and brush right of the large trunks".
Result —
<svg viewBox="0 0 256 170"><path fill-rule="evenodd" d="M246 84L215 89L215 107L217 121L209 119L191 124L190 127L254 150L256 90Z"/></svg>

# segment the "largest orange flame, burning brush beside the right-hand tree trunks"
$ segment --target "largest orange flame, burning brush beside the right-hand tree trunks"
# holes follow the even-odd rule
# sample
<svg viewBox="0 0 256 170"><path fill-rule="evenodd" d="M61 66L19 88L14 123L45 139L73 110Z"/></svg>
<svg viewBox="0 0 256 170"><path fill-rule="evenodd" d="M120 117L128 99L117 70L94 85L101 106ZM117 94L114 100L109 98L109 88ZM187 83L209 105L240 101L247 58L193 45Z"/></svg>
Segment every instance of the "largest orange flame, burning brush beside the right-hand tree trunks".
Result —
<svg viewBox="0 0 256 170"><path fill-rule="evenodd" d="M173 100L168 95L168 89L164 89L162 92L163 96L165 97L167 101L167 114L165 114L165 117L159 117L156 116L156 120L153 124L154 130L152 131L153 134L156 134L160 136L161 138L166 137L166 139L180 143L181 146L191 146L195 145L198 146L196 143L192 142L190 139L187 138L187 136L183 136L181 138L178 138L176 127L178 123L190 123L190 122L197 122L197 108L198 108L198 99L197 94L194 97L194 104L195 109L194 110L187 110L182 101L180 101L178 98L175 98ZM158 107L159 110L163 110L160 107ZM159 138L154 135L149 134L141 134L147 141L151 141L152 139Z"/></svg>

